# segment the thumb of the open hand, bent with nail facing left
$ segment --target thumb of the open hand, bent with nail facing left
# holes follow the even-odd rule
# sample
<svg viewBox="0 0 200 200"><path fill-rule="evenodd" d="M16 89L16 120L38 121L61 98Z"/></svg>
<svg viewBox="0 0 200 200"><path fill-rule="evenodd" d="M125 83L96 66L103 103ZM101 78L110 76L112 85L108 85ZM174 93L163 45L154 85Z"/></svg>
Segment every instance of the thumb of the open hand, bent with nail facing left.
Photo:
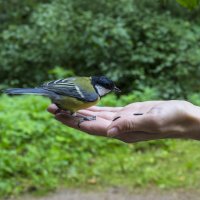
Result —
<svg viewBox="0 0 200 200"><path fill-rule="evenodd" d="M107 136L115 137L125 132L149 132L152 130L152 119L150 116L119 117L113 121L108 129Z"/></svg>

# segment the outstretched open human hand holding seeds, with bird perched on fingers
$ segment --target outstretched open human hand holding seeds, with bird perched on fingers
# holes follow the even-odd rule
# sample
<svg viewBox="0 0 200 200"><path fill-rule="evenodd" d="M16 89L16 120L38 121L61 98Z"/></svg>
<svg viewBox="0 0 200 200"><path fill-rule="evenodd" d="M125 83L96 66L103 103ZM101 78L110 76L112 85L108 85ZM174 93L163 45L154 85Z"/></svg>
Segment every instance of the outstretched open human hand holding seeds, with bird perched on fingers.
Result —
<svg viewBox="0 0 200 200"><path fill-rule="evenodd" d="M52 104L48 111L63 124L83 132L112 137L126 143L163 138L200 139L200 108L187 101L147 101L125 107L93 106L79 111L96 120L77 121L65 113L56 113Z"/></svg>

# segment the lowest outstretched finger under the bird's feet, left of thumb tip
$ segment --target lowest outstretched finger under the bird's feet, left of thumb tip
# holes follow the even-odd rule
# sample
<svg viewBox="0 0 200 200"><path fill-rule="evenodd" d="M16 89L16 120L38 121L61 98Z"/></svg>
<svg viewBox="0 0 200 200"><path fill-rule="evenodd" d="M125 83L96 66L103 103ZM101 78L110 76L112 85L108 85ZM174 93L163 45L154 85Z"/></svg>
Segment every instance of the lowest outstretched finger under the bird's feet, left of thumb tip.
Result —
<svg viewBox="0 0 200 200"><path fill-rule="evenodd" d="M100 117L96 118L96 120L84 121L80 126L78 126L78 120L70 115L56 114L55 118L69 127L99 136L106 136L107 128L110 125L110 121Z"/></svg>

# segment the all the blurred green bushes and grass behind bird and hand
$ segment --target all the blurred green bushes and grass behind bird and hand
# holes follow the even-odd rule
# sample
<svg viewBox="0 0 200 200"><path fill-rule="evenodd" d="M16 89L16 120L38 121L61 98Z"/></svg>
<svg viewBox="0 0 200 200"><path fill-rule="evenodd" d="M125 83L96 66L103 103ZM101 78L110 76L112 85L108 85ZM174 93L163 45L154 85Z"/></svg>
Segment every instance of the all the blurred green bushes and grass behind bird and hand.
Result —
<svg viewBox="0 0 200 200"><path fill-rule="evenodd" d="M0 88L104 74L123 92L101 105L200 105L199 11L174 0L1 0ZM61 186L199 186L198 142L127 145L84 135L45 112L49 103L0 96L0 196Z"/></svg>

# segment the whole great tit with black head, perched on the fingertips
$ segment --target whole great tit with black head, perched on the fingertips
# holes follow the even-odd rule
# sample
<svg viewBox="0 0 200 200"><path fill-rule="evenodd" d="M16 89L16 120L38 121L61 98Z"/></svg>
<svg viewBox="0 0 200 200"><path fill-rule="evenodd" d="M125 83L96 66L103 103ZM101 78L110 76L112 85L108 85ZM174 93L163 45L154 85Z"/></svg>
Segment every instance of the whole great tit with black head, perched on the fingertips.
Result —
<svg viewBox="0 0 200 200"><path fill-rule="evenodd" d="M105 76L92 76L70 77L50 81L36 88L10 88L3 92L8 95L47 96L60 110L70 111L73 114L97 104L101 97L111 91L120 91L112 80Z"/></svg>

